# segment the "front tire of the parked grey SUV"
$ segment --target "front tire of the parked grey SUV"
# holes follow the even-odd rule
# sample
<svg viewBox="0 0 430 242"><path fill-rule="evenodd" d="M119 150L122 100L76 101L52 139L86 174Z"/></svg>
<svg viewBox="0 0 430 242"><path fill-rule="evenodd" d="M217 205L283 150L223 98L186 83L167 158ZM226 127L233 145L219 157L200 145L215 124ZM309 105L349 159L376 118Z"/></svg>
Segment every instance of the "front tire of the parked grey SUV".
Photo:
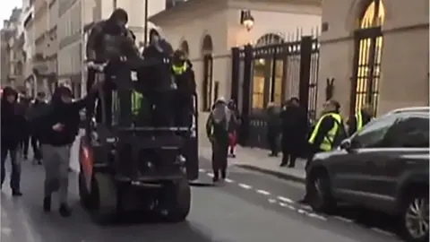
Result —
<svg viewBox="0 0 430 242"><path fill-rule="evenodd" d="M308 201L312 209L315 212L333 212L336 201L331 194L330 178L327 171L323 169L311 171L307 182L309 182Z"/></svg>

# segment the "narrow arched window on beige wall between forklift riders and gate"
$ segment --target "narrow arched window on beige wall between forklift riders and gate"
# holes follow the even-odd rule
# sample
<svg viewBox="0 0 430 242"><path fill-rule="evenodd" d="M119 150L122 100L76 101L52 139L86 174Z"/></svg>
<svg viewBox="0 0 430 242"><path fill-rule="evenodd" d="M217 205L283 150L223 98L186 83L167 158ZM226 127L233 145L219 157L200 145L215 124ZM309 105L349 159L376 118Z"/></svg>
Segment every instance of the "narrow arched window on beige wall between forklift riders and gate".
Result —
<svg viewBox="0 0 430 242"><path fill-rule="evenodd" d="M210 35L205 35L202 43L203 56L203 84L202 84L202 107L203 111L210 111L212 106L213 90L213 44Z"/></svg>

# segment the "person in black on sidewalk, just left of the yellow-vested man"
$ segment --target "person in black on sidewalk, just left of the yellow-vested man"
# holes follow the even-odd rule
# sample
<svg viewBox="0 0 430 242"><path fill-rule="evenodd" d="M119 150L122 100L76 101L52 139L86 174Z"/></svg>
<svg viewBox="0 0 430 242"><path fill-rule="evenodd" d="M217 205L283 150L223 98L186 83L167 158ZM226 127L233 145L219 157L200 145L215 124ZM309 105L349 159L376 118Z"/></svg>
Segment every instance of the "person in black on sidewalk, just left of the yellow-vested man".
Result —
<svg viewBox="0 0 430 242"><path fill-rule="evenodd" d="M309 124L305 108L300 107L297 98L288 100L286 107L280 113L280 124L282 133L280 166L288 165L288 168L294 168L297 158L305 152L307 147L306 137Z"/></svg>

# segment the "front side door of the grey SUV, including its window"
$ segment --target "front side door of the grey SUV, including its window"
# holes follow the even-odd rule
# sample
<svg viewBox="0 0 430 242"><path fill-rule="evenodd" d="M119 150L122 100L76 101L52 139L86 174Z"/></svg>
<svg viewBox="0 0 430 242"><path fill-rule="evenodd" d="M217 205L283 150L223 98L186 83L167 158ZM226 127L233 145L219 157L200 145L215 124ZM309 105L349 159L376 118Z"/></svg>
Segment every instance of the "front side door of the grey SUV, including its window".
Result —
<svg viewBox="0 0 430 242"><path fill-rule="evenodd" d="M378 151L395 120L395 117L375 119L350 138L350 149L344 151L342 159L335 164L335 192L357 202L367 196L370 192L367 185L372 179L368 169L369 162L374 160L375 151Z"/></svg>

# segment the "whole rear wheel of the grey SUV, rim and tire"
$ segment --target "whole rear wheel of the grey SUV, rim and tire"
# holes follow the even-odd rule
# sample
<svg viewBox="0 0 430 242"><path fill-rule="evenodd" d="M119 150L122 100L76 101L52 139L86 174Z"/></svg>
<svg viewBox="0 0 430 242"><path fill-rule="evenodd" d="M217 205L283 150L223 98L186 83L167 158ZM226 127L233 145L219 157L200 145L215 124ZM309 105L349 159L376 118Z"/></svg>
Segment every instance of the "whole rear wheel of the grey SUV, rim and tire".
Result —
<svg viewBox="0 0 430 242"><path fill-rule="evenodd" d="M408 194L401 211L401 235L410 242L428 241L428 191Z"/></svg>

